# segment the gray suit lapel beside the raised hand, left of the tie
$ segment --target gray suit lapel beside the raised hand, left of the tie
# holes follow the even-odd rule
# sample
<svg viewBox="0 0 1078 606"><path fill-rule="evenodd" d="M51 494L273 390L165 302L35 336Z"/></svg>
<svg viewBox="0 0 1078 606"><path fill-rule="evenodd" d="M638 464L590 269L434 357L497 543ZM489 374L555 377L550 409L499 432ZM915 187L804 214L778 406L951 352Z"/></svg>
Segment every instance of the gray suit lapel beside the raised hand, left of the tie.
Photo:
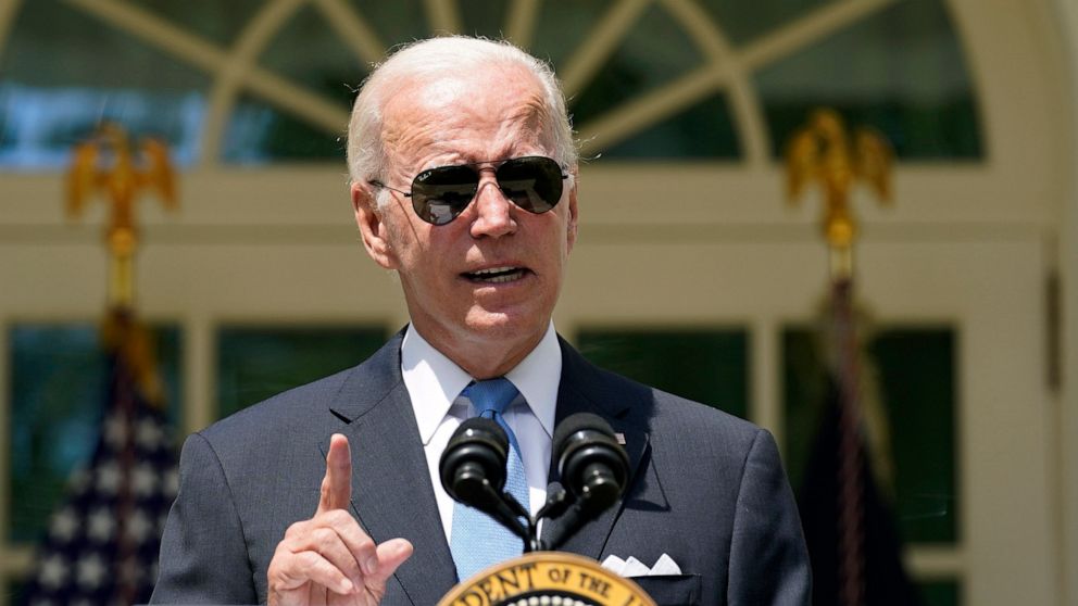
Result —
<svg viewBox="0 0 1078 606"><path fill-rule="evenodd" d="M403 536L415 552L397 570L413 604L436 604L456 582L427 459L400 373L400 334L356 368L333 413L352 452L352 507L375 542Z"/></svg>

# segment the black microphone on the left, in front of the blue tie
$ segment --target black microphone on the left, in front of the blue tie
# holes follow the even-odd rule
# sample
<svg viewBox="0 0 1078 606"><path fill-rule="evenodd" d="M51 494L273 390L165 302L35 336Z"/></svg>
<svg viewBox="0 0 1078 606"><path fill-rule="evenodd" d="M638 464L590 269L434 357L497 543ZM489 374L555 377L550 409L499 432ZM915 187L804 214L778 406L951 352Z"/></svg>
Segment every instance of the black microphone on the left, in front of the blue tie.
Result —
<svg viewBox="0 0 1078 606"><path fill-rule="evenodd" d="M527 548L529 532L518 516L528 518L528 510L504 492L507 459L505 430L491 419L474 417L453 432L438 470L441 485L453 500L494 518L523 539Z"/></svg>

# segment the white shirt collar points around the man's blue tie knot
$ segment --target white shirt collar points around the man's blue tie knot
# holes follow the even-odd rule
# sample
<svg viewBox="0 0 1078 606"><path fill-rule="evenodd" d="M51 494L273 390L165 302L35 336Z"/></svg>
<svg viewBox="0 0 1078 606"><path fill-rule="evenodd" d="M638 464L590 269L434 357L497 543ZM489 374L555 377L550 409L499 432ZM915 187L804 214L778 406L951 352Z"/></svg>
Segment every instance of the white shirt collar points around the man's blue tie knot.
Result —
<svg viewBox="0 0 1078 606"><path fill-rule="evenodd" d="M419 437L426 445L449 414L453 401L473 379L411 325L401 343L401 375L412 400ZM539 344L505 378L527 401L547 435L553 435L557 386L562 378L562 349L553 321Z"/></svg>

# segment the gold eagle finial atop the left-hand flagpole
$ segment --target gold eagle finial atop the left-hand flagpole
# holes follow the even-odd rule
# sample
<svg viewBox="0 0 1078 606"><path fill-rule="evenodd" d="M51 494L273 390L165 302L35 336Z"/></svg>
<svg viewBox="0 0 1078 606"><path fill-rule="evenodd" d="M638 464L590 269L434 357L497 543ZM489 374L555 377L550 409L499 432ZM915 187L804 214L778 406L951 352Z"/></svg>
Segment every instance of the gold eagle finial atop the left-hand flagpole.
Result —
<svg viewBox="0 0 1078 606"><path fill-rule="evenodd" d="M168 148L145 138L138 151L138 155L131 152L123 128L106 123L92 139L75 146L67 172L68 218L77 218L98 193L110 205L105 241L112 258L109 303L113 307L130 307L134 302L135 203L139 195L152 191L165 209L178 206Z"/></svg>

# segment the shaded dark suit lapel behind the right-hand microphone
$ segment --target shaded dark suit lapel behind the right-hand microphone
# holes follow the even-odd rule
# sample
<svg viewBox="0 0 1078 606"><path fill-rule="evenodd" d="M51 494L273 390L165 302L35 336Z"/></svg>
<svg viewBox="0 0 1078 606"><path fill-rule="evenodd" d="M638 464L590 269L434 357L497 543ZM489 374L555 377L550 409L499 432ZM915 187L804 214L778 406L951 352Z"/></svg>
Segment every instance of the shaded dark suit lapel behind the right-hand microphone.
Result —
<svg viewBox="0 0 1078 606"><path fill-rule="evenodd" d="M640 462L648 452L648 433L637 422L630 413L634 399L629 393L607 393L601 388L599 370L584 359L564 341L562 345L562 380L557 390L557 413L555 425L576 413L592 413L610 422L615 433L625 438L625 452L629 455L629 490L635 479L641 472ZM557 462L550 463L550 478L559 479ZM627 492L628 494L628 492ZM606 540L625 507L625 498L618 500L612 507L603 512L594 520L584 525L561 547L561 551L586 555L599 559ZM544 525L543 536L557 528L560 520Z"/></svg>

